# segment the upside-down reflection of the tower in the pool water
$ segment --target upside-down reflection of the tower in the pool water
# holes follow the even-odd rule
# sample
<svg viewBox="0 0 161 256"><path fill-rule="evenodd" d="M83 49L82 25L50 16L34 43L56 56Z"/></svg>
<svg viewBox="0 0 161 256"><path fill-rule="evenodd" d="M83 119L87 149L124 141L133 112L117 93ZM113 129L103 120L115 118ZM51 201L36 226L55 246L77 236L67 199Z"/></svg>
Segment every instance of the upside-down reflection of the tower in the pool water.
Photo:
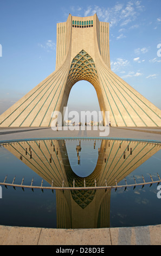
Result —
<svg viewBox="0 0 161 256"><path fill-rule="evenodd" d="M78 140L79 141L79 140ZM94 148L95 148L95 141ZM4 146L53 187L114 186L160 150L152 143L102 140L93 172L81 177L70 166L65 140L42 140L9 143ZM81 141L73 149L78 158L83 151ZM141 175L141 174L140 174ZM56 190L57 228L110 227L111 189Z"/></svg>

